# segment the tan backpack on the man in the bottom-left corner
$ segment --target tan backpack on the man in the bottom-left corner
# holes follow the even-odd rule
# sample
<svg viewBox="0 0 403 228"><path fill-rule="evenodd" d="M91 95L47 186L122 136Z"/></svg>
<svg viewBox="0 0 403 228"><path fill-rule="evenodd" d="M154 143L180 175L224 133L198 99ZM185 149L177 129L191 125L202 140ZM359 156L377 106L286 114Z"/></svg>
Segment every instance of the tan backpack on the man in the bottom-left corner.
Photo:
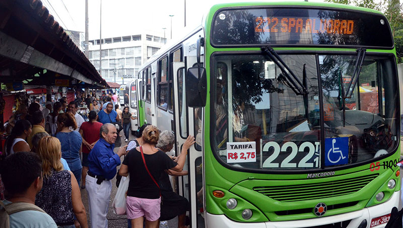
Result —
<svg viewBox="0 0 403 228"><path fill-rule="evenodd" d="M46 214L45 211L32 203L17 202L5 205L2 201L0 201L0 205L3 206L3 208L0 209L0 227L4 228L10 228L10 214L24 210L35 210Z"/></svg>

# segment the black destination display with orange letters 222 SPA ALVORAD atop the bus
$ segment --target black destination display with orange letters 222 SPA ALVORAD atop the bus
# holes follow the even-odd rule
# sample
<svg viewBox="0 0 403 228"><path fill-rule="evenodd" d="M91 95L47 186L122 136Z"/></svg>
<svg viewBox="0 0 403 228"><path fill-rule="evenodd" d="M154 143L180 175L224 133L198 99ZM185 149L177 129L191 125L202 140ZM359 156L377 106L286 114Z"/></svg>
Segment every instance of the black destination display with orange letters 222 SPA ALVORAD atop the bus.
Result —
<svg viewBox="0 0 403 228"><path fill-rule="evenodd" d="M343 45L393 48L381 14L306 8L229 9L217 12L213 46Z"/></svg>

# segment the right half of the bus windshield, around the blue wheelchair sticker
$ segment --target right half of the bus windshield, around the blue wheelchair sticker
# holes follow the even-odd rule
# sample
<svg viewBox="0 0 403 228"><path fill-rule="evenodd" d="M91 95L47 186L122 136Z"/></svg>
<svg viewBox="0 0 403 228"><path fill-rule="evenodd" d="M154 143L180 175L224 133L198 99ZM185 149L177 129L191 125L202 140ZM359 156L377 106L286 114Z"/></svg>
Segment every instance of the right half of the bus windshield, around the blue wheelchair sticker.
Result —
<svg viewBox="0 0 403 228"><path fill-rule="evenodd" d="M343 164L393 153L398 143L396 95L391 92L393 89L385 90L397 84L391 67L393 60L366 55L353 96L346 98L344 105L340 78L345 78L341 75L353 75L356 59L356 55L319 56L325 136L346 138L349 155ZM343 83L343 87L347 87L346 84ZM351 110L348 103L352 102L360 104L359 107ZM329 160L325 165L332 166L333 163Z"/></svg>

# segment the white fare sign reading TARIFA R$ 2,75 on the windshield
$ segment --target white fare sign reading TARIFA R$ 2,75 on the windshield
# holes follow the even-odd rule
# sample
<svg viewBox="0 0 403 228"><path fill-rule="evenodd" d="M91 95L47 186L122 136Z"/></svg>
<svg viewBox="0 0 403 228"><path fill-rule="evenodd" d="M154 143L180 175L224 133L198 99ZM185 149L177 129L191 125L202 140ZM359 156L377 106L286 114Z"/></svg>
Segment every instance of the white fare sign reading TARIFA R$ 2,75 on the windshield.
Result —
<svg viewBox="0 0 403 228"><path fill-rule="evenodd" d="M256 142L227 142L227 163L256 162Z"/></svg>

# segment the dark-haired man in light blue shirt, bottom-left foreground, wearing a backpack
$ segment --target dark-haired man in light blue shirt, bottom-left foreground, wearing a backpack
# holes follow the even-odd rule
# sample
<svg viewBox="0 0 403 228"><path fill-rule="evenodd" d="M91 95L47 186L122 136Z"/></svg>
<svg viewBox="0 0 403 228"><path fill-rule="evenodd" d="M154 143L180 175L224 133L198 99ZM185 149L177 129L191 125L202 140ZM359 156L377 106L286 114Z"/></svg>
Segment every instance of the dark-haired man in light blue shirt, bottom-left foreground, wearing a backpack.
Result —
<svg viewBox="0 0 403 228"><path fill-rule="evenodd" d="M8 192L7 199L0 201L0 227L8 225L5 222L9 217L10 228L57 228L52 217L35 206L35 196L43 184L41 161L35 153L10 155L0 164L0 175ZM17 210L19 206L24 209Z"/></svg>

